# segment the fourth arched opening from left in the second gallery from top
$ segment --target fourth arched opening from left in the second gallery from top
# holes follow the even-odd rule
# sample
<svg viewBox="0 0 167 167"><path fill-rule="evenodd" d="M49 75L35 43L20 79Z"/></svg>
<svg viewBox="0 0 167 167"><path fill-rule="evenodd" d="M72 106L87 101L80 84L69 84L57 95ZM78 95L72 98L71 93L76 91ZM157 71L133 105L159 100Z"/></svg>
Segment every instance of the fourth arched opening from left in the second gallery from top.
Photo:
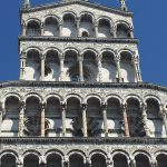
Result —
<svg viewBox="0 0 167 167"><path fill-rule="evenodd" d="M87 50L84 53L84 77L87 82L97 82L99 80L97 57L91 50Z"/></svg>

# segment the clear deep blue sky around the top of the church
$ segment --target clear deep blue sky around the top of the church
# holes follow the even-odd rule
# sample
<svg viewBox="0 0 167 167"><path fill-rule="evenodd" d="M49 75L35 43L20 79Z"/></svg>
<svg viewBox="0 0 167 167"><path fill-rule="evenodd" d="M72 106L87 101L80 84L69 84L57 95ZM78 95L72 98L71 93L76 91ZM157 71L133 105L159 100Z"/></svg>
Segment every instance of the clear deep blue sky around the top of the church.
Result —
<svg viewBox="0 0 167 167"><path fill-rule="evenodd" d="M31 4L56 0L30 0ZM119 8L118 0L94 0L96 3ZM18 36L19 8L23 0L0 2L0 81L19 79ZM143 80L167 86L167 1L127 0L134 14L135 37L140 40L140 68Z"/></svg>

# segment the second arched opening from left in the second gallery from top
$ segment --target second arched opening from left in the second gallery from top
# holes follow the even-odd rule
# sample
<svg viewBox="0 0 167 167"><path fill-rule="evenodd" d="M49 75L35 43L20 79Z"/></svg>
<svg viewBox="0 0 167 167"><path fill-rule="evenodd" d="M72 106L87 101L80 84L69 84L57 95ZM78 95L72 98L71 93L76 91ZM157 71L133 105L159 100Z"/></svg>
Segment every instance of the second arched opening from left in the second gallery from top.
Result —
<svg viewBox="0 0 167 167"><path fill-rule="evenodd" d="M58 81L60 77L60 61L56 50L49 50L46 55L45 80Z"/></svg>

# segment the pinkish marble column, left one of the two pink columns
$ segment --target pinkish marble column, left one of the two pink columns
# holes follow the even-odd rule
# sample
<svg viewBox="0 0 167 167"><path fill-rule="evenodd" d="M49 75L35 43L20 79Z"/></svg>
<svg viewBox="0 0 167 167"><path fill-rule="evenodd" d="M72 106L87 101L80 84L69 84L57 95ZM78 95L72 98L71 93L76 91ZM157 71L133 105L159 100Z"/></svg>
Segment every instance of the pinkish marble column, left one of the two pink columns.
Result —
<svg viewBox="0 0 167 167"><path fill-rule="evenodd" d="M46 134L46 104L41 104L41 114L40 114L40 137L45 137Z"/></svg>

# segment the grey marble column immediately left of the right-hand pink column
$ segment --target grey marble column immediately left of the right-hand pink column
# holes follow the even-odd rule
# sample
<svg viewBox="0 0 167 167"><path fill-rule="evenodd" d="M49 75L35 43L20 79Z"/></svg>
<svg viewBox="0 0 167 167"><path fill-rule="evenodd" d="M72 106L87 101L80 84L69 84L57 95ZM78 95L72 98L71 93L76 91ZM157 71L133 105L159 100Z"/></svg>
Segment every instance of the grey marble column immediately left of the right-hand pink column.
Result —
<svg viewBox="0 0 167 167"><path fill-rule="evenodd" d="M104 131L105 131L105 137L108 137L107 105L106 105L106 104L102 104L101 110L102 110L102 118L104 118Z"/></svg>

